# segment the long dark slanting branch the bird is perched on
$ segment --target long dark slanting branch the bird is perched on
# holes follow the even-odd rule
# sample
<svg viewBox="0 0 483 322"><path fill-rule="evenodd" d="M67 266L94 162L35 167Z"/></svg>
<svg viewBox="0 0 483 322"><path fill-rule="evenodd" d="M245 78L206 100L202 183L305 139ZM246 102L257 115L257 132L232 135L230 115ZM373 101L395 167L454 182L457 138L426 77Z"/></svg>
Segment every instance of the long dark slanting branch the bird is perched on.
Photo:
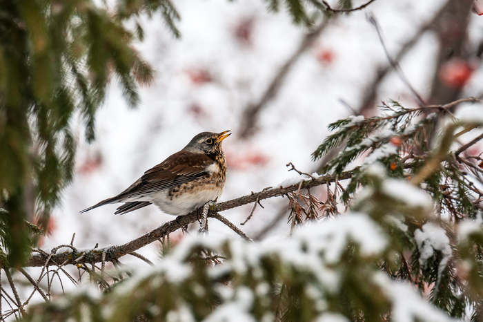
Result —
<svg viewBox="0 0 483 322"><path fill-rule="evenodd" d="M351 178L353 176L353 171L346 171L342 173L341 176L338 177L338 180L344 180ZM335 182L335 176L327 175L319 177L316 180L308 180L302 182L302 189L316 187L322 184L326 184L327 182ZM219 211L225 211L228 209L233 209L236 207L240 207L242 205L248 205L252 202L256 202L257 200L264 200L268 198L278 197L286 195L287 193L297 191L299 189L299 184L294 184L290 187L278 187L268 190L263 190L257 193L253 193L247 196L242 196L233 200L228 200L225 202L220 202L212 207L208 211L208 217L210 218L217 218L219 220L219 215L217 213ZM92 264L92 263L102 263L103 261L103 253L105 253L104 261L117 261L118 258L125 256L127 254L131 254L135 252L137 249L144 247L155 240L159 240L159 238L164 238L168 234L176 231L177 229L189 225L192 222L196 222L198 220L198 212L197 210L187 214L185 216L179 216L175 220L171 220L166 222L164 225L157 227L156 229L136 238L135 240L131 240L130 242L119 245L119 246L111 246L105 248L95 248L90 249L88 251L77 251L75 247L70 249L66 252L61 252L56 254L59 250L59 247L52 249L53 254L48 254L46 252L39 252L30 258L26 266L31 267L43 267L49 265L57 265L56 263L62 263L62 265L83 265L83 264ZM65 245L66 247L70 248L70 245Z"/></svg>

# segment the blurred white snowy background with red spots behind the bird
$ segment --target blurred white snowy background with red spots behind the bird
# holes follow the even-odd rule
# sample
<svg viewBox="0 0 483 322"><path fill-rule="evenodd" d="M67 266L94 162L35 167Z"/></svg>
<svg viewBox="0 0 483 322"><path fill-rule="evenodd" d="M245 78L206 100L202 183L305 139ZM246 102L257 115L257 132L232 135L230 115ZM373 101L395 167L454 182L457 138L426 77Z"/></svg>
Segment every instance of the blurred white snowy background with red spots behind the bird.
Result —
<svg viewBox="0 0 483 322"><path fill-rule="evenodd" d="M353 7L365 2L353 1ZM328 3L337 8L337 1ZM181 39L161 17L141 20L146 34L137 49L156 74L140 89L139 107L126 106L113 79L97 112L94 143L86 143L81 118L74 121L75 179L50 218L42 247L68 244L74 233L80 248L126 243L173 220L155 206L124 216L113 214L116 205L79 211L123 191L199 132L233 131L224 141L228 176L219 201L225 201L296 176L288 162L308 173L319 169L311 153L331 122L377 115L382 100L420 106L408 84L424 104L483 95L483 16L470 0L376 0L351 15L315 16L310 30L295 26L283 10L268 12L260 0L178 0L175 6ZM391 66L368 16L408 84ZM314 194L326 199L324 189ZM288 236L288 200L262 205L244 226L253 205L223 215L256 239ZM216 220L209 228L210 234L235 234ZM155 259L158 247L139 252Z"/></svg>

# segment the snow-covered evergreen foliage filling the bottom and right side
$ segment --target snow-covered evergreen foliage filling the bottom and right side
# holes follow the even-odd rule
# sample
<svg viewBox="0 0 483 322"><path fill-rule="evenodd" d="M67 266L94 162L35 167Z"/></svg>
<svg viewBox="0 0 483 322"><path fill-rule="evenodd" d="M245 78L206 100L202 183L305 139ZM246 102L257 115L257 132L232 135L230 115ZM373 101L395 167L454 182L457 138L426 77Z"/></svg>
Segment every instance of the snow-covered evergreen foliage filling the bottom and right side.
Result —
<svg viewBox="0 0 483 322"><path fill-rule="evenodd" d="M335 157L344 167L368 153L348 184L361 189L344 190L346 214L328 218L325 208L337 200L291 193L299 229L290 238L256 245L186 236L147 272L112 272L124 280L112 279L103 294L81 290L37 305L25 321L481 321L481 171L441 146L482 124L444 106L426 114L392 102L388 111L331 124L335 134L314 153L345 142ZM429 133L432 148L422 140ZM393 148L382 149L387 144Z"/></svg>

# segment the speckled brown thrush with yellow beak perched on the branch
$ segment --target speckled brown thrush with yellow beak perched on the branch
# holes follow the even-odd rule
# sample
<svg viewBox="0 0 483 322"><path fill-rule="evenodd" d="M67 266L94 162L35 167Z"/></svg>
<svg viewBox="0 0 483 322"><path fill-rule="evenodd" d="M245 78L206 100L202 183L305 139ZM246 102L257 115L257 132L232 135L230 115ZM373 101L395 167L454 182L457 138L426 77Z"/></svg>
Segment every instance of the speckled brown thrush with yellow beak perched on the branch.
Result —
<svg viewBox="0 0 483 322"><path fill-rule="evenodd" d="M156 205L166 214L183 216L221 196L226 181L226 159L221 142L231 131L202 132L181 151L144 173L117 196L80 211L123 202L114 214L127 214Z"/></svg>

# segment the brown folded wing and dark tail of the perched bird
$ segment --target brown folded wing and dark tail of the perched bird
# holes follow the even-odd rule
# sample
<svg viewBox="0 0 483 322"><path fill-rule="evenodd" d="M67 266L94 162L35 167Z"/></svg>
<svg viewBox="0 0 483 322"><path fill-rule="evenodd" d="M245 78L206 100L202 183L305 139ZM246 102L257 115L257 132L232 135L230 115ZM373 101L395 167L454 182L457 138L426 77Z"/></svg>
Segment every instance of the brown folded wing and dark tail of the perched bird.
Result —
<svg viewBox="0 0 483 322"><path fill-rule="evenodd" d="M96 205L82 210L81 213L110 203L122 202L126 198L146 196L164 189L177 187L177 185L185 182L196 180L209 173L207 168L211 164L213 164L213 159L204 153L179 151L146 171L141 178L117 196L102 200ZM126 202L126 204L127 203L128 202ZM146 204L143 204L143 207L144 206L146 206ZM124 207L124 205L121 207ZM139 209L139 207L137 209ZM130 207L126 205L126 209L124 210L132 211L134 209L130 209ZM126 212L128 211L123 211L123 209L121 209L119 213L124 214Z"/></svg>

